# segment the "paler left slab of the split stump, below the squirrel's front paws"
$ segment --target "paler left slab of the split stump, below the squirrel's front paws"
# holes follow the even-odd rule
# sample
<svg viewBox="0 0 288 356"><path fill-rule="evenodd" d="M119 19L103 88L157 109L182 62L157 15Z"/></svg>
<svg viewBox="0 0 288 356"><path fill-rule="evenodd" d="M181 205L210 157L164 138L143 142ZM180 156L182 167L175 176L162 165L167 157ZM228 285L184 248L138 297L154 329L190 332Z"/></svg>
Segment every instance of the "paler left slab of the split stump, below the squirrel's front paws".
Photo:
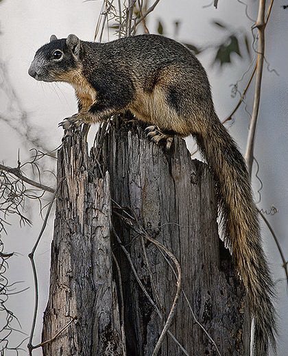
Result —
<svg viewBox="0 0 288 356"><path fill-rule="evenodd" d="M77 322L43 348L43 355L122 355L110 246L109 176L89 179L79 134L58 152L57 199L51 247L51 283L43 341L71 318Z"/></svg>

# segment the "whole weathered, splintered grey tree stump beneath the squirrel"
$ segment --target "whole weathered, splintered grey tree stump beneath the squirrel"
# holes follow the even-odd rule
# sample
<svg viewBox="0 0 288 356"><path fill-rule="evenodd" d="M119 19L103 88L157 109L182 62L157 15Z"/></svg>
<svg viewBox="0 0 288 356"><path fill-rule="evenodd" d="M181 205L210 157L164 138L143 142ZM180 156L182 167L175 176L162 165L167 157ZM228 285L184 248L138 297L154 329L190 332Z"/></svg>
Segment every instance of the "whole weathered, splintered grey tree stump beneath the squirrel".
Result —
<svg viewBox="0 0 288 356"><path fill-rule="evenodd" d="M213 180L184 140L165 152L115 119L90 155L80 132L64 139L62 177L43 341L77 320L44 356L156 356L180 268L158 355L249 355L248 307L218 236Z"/></svg>

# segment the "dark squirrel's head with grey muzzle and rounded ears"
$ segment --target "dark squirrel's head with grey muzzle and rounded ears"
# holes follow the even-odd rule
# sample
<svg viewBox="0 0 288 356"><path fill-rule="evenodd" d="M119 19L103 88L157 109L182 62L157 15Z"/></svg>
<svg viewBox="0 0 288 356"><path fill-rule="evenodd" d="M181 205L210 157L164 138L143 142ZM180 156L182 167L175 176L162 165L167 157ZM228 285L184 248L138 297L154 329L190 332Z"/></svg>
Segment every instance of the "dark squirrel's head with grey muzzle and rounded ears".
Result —
<svg viewBox="0 0 288 356"><path fill-rule="evenodd" d="M60 40L52 35L50 42L36 51L28 73L44 82L69 82L69 73L80 69L83 51L75 34Z"/></svg>

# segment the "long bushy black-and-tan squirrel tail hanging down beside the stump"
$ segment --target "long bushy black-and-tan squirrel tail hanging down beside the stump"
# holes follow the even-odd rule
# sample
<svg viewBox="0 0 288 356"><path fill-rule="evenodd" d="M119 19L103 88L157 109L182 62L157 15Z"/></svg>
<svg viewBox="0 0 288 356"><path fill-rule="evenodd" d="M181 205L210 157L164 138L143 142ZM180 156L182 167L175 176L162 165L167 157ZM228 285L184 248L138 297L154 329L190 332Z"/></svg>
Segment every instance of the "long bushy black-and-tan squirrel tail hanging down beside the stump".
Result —
<svg viewBox="0 0 288 356"><path fill-rule="evenodd" d="M254 356L265 356L269 345L275 348L273 283L261 246L248 171L226 128L214 112L211 116L212 125L210 117L204 133L195 139L215 176L224 237L248 294L254 317Z"/></svg>

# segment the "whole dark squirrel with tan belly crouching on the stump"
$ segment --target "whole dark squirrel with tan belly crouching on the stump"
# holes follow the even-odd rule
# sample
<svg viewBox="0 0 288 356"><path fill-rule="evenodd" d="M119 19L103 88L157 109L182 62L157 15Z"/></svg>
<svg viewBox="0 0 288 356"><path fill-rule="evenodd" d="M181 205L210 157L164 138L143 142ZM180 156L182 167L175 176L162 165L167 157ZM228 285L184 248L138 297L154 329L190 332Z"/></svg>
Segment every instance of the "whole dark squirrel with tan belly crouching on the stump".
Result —
<svg viewBox="0 0 288 356"><path fill-rule="evenodd" d="M254 318L254 355L276 348L276 317L270 276L248 170L237 145L217 117L206 71L184 45L143 34L90 43L70 34L40 47L28 71L36 80L67 82L75 88L79 112L60 125L82 123L130 111L147 123L155 143L192 135L216 182L224 240L232 250Z"/></svg>

